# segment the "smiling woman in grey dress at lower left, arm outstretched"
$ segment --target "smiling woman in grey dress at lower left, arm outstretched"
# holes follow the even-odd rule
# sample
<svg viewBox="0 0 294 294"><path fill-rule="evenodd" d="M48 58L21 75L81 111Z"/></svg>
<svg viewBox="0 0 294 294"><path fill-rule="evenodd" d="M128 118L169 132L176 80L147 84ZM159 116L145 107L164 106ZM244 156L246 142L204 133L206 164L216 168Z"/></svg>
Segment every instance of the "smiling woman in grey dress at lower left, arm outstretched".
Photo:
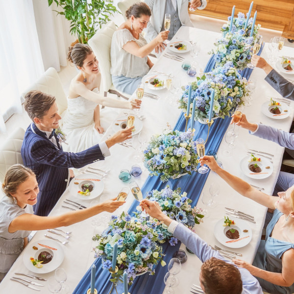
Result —
<svg viewBox="0 0 294 294"><path fill-rule="evenodd" d="M114 212L124 201L104 201L91 208L65 213L56 217L33 214L39 193L34 172L21 164L11 166L5 174L0 201L0 281L27 245L31 231L68 226L84 221L102 211Z"/></svg>

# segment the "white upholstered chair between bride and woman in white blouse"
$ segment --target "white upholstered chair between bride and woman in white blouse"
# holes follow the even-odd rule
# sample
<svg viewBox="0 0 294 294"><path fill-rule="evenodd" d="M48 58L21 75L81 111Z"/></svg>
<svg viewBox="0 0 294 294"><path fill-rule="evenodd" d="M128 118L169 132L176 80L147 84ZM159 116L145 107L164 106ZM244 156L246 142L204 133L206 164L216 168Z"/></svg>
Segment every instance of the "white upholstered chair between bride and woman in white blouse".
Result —
<svg viewBox="0 0 294 294"><path fill-rule="evenodd" d="M107 96L107 92L116 94L119 97L128 99L130 95L121 94L113 85L110 74L110 47L112 36L117 30L114 22L108 22L102 29L88 41L89 46L92 48L99 62L99 69L101 72L101 85L100 93L104 92L104 96Z"/></svg>

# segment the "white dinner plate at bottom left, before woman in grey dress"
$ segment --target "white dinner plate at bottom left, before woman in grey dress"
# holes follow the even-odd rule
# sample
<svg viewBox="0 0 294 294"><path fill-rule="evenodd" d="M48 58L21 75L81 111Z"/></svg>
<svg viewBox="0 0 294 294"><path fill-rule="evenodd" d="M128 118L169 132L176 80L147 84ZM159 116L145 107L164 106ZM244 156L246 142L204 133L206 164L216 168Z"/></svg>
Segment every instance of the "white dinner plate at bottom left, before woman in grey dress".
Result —
<svg viewBox="0 0 294 294"><path fill-rule="evenodd" d="M43 247L39 244L47 245L56 250ZM33 249L33 246L36 246L38 250ZM25 267L35 273L48 273L50 271L56 270L57 268L59 268L64 259L64 251L62 246L63 245L57 243L54 240L40 240L34 243L29 242L28 245L26 245L25 247L25 252L23 256ZM41 269L38 269L32 264L30 258L33 257L34 259L38 259L38 256L42 251L49 252L53 256L53 258L49 263L43 265Z"/></svg>

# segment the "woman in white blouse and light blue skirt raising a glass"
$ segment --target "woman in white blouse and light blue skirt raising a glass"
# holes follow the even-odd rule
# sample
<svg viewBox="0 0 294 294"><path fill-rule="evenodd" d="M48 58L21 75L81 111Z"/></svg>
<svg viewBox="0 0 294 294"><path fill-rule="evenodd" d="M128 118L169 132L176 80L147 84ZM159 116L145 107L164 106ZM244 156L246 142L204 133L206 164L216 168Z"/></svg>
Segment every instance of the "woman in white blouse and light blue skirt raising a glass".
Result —
<svg viewBox="0 0 294 294"><path fill-rule="evenodd" d="M110 72L114 86L119 91L132 95L142 77L153 66L147 55L168 38L169 31L160 32L147 44L142 32L150 20L149 6L137 2L127 9L125 16L127 21L112 37Z"/></svg>

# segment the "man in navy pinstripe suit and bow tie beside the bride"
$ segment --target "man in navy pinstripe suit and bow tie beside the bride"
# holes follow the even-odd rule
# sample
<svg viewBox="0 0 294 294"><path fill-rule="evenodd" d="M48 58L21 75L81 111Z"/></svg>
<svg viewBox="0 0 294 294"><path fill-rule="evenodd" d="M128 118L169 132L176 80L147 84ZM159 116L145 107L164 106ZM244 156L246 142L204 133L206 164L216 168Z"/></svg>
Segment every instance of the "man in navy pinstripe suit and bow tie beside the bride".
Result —
<svg viewBox="0 0 294 294"><path fill-rule="evenodd" d="M82 152L65 152L55 134L61 119L55 98L30 91L25 96L25 111L33 123L26 129L21 153L24 165L35 172L39 183L39 200L34 206L34 213L39 216L47 216L67 188L69 168L79 169L104 160L110 155L110 147L131 138L132 128L128 128Z"/></svg>

